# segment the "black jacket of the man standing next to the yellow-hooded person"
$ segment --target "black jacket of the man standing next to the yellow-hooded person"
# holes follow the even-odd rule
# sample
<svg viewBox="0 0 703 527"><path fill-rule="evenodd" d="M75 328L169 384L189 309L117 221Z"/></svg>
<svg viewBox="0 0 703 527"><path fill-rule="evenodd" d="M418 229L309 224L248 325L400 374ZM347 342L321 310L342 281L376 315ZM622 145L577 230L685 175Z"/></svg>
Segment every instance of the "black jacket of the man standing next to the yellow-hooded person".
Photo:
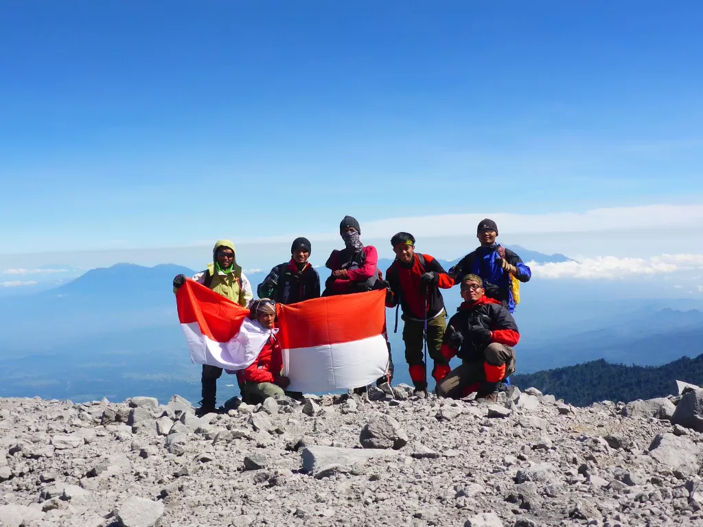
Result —
<svg viewBox="0 0 703 527"><path fill-rule="evenodd" d="M275 282L276 285L272 285ZM320 296L320 275L309 263L298 271L292 260L271 269L257 286L259 298L270 298L280 304L295 304Z"/></svg>

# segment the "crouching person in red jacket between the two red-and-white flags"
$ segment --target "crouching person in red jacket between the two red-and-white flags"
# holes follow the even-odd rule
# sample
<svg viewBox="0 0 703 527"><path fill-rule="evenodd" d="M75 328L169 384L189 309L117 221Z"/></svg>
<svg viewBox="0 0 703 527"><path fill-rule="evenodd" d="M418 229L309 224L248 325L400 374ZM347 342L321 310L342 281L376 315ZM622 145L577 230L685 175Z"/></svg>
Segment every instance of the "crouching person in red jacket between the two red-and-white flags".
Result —
<svg viewBox="0 0 703 527"><path fill-rule="evenodd" d="M254 300L250 318L266 330L272 330L276 320L276 303L271 299ZM281 375L283 356L280 342L271 334L259 356L245 370L237 372L245 403L262 403L267 397L281 398L290 384L288 377Z"/></svg>

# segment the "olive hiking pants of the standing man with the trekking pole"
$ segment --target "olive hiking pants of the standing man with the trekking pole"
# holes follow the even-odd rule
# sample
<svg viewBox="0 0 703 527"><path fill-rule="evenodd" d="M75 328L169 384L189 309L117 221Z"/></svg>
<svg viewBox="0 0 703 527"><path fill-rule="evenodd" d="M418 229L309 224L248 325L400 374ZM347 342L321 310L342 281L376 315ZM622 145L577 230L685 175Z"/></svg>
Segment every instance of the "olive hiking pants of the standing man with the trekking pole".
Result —
<svg viewBox="0 0 703 527"><path fill-rule="evenodd" d="M423 332L425 322L423 320L405 320L403 328L403 341L405 342L405 360L410 370L410 378L415 384L415 388L427 389L427 372L423 353ZM449 360L441 354L441 344L444 341L446 331L446 311L442 311L439 316L427 320L427 353L430 354L434 367L432 376L435 375L437 366L444 366L449 370ZM441 368L440 368L441 369ZM446 372L443 372L446 374Z"/></svg>

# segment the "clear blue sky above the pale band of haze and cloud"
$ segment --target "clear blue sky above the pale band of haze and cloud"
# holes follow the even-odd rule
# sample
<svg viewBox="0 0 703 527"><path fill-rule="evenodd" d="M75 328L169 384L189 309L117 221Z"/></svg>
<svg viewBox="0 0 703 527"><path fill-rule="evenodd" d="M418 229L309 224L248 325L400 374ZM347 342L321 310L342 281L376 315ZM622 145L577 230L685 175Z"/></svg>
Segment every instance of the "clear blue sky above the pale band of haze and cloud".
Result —
<svg viewBox="0 0 703 527"><path fill-rule="evenodd" d="M0 254L701 207L700 27L692 1L6 1Z"/></svg>

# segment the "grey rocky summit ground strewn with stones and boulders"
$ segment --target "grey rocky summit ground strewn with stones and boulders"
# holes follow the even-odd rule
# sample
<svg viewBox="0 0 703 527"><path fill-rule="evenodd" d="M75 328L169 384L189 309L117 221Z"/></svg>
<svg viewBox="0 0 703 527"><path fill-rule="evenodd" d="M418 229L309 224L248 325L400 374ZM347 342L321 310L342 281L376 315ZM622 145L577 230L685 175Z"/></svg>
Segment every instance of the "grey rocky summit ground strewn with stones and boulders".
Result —
<svg viewBox="0 0 703 527"><path fill-rule="evenodd" d="M703 390L573 408L323 396L0 399L0 524L703 526ZM676 422L677 424L672 424Z"/></svg>

